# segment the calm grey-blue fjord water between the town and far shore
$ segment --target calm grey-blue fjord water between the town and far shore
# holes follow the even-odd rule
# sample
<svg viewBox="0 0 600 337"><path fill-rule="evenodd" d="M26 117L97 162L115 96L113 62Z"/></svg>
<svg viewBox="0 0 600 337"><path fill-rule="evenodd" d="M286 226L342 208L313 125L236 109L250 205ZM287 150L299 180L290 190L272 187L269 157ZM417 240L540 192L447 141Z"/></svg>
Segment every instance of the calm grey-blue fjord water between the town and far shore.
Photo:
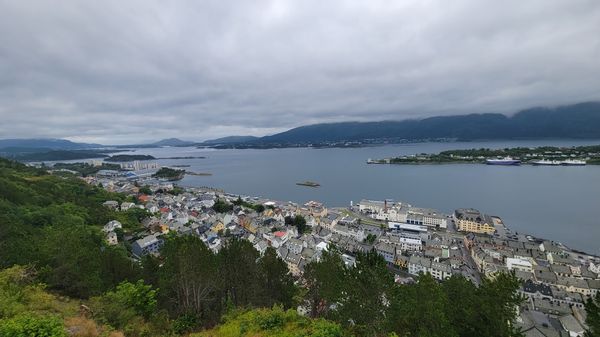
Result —
<svg viewBox="0 0 600 337"><path fill-rule="evenodd" d="M155 157L206 156L159 160L188 164L184 186L210 186L235 194L327 206L366 199L394 199L451 213L474 207L502 217L517 232L560 241L600 254L600 166L368 165L368 158L435 153L450 149L517 146L577 146L600 141L505 141L418 143L363 148L214 150L136 149ZM297 186L311 180L319 188Z"/></svg>

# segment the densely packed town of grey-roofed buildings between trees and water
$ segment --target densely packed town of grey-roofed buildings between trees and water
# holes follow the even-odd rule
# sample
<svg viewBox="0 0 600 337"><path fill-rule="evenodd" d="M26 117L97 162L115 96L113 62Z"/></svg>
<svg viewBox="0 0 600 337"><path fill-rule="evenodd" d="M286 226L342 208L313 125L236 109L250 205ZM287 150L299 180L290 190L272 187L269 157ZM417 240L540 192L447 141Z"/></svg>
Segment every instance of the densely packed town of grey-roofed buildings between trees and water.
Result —
<svg viewBox="0 0 600 337"><path fill-rule="evenodd" d="M522 281L525 300L518 324L526 336L582 336L584 301L600 288L598 257L513 233L499 216L472 208L444 214L393 200L327 208L314 200L296 204L211 188L182 189L131 174L84 179L136 200L107 201L105 207L148 211L139 230L124 233L116 220L103 227L108 244L127 243L135 260L160 256L168 235L195 235L215 252L234 238L250 241L261 254L272 247L295 276L334 247L349 267L357 252L375 250L399 283L428 273L440 282L462 275L480 284L482 278L514 272ZM140 192L140 186L151 193ZM226 208L218 211L217 205ZM294 219L302 219L302 226Z"/></svg>

